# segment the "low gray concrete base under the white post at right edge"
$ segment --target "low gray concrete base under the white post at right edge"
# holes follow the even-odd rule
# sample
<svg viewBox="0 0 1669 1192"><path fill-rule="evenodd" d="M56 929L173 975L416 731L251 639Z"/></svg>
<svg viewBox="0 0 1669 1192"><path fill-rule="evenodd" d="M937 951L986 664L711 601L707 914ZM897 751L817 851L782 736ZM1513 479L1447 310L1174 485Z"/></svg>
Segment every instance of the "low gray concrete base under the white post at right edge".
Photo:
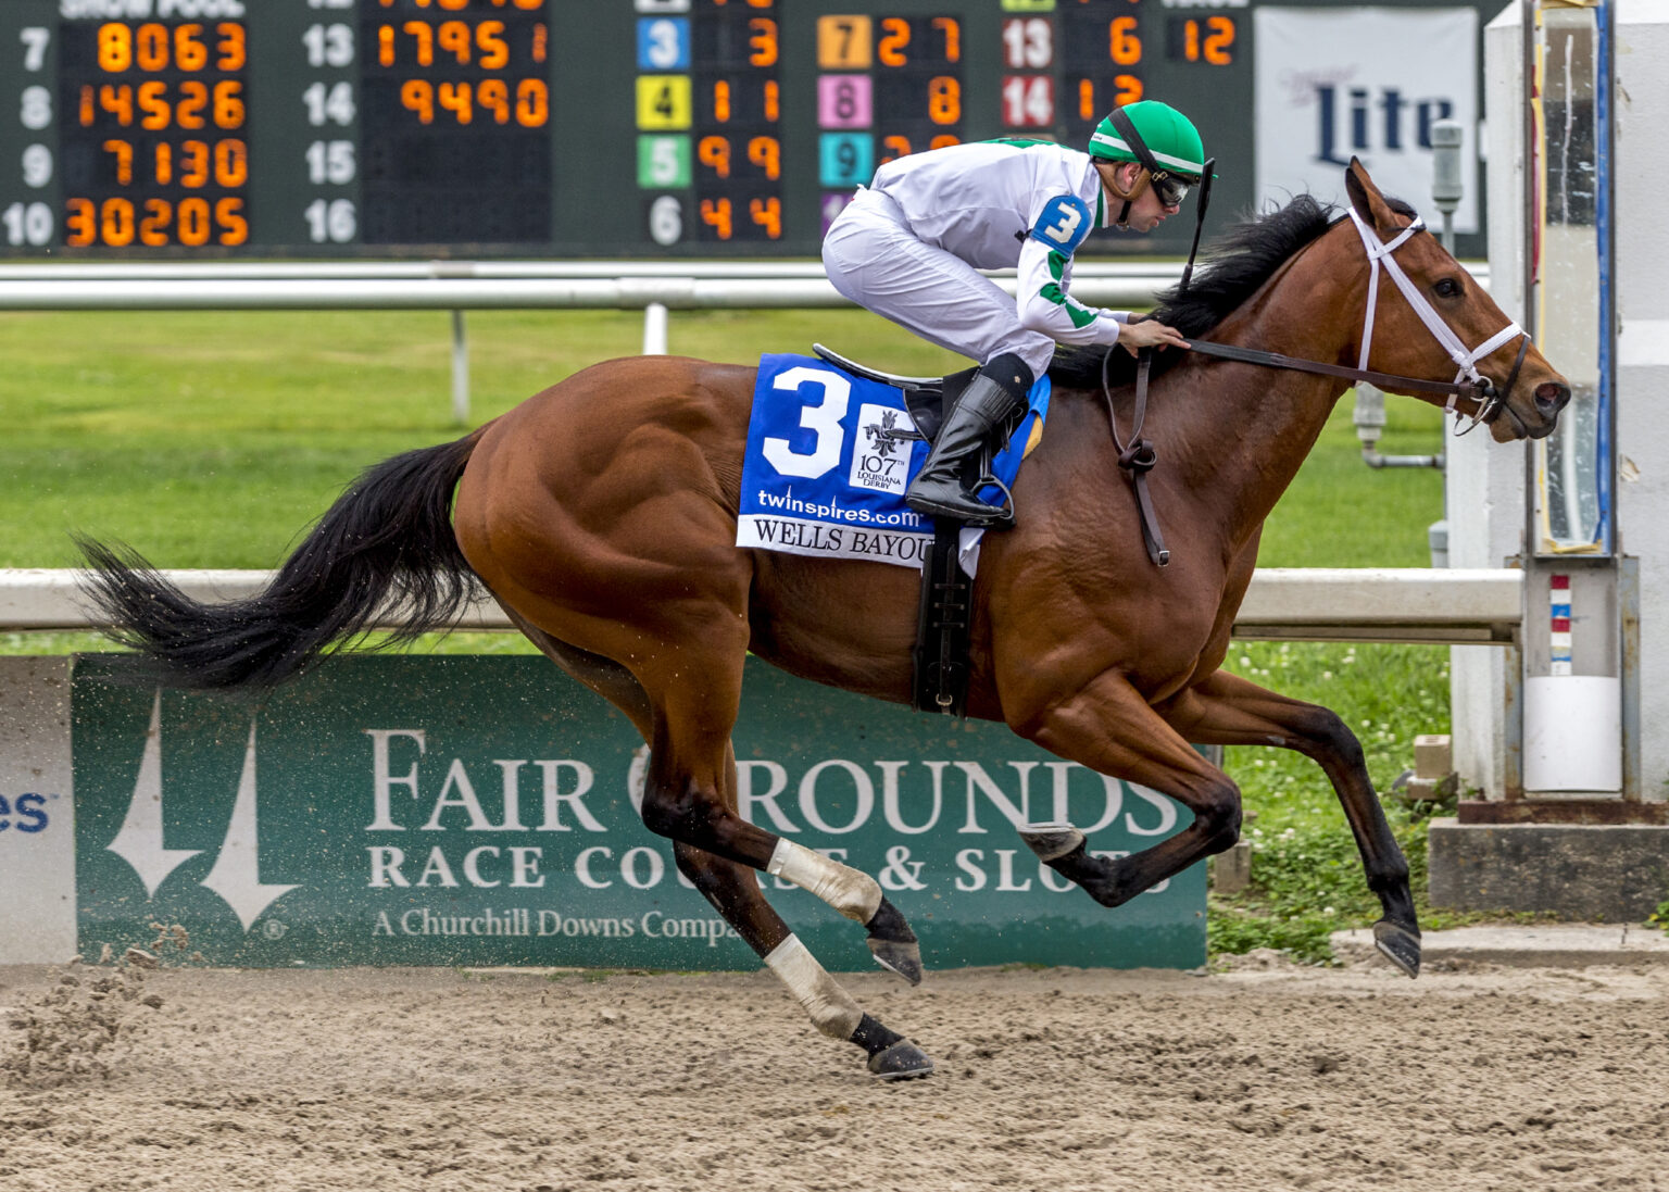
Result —
<svg viewBox="0 0 1669 1192"><path fill-rule="evenodd" d="M1669 898L1669 825L1432 820L1430 902L1639 923Z"/></svg>

